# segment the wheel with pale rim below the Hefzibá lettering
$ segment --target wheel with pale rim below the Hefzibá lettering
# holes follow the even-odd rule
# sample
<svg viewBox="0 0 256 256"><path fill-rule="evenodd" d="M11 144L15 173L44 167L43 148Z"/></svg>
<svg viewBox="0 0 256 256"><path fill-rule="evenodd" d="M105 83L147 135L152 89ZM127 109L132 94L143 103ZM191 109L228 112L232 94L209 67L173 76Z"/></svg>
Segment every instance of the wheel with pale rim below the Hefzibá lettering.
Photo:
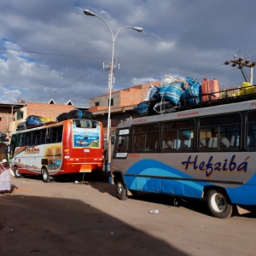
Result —
<svg viewBox="0 0 256 256"><path fill-rule="evenodd" d="M222 189L212 189L208 192L207 206L212 216L217 218L230 218L234 210L228 195Z"/></svg>

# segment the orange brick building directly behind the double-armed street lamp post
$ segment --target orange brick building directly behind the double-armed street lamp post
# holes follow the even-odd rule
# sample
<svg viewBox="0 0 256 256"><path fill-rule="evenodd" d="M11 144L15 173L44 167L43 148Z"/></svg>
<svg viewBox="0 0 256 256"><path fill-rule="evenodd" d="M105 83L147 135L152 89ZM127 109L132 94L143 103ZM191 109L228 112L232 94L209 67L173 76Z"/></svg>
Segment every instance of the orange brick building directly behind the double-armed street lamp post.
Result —
<svg viewBox="0 0 256 256"><path fill-rule="evenodd" d="M159 86L160 81L149 82L148 84L139 84L124 90L113 91L111 94L111 131L116 126L125 121L125 119L137 118L137 111L134 107L143 102L150 85ZM108 127L108 102L109 94L90 98L89 111L96 119L101 121L104 127L104 134L107 134Z"/></svg>

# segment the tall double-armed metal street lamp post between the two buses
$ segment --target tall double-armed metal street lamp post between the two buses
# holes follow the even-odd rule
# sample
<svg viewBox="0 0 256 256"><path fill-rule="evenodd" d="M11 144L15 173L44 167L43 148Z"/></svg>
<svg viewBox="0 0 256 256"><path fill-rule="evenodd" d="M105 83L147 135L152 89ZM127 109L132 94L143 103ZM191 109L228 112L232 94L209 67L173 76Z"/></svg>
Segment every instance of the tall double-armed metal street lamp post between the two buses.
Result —
<svg viewBox="0 0 256 256"><path fill-rule="evenodd" d="M117 37L118 33L121 30L125 29L125 28L131 28L131 29L136 30L137 32L143 32L143 28L138 27L138 26L124 26L121 29L119 29L119 31L116 32L115 35L113 35L111 27L108 25L107 21L104 20L101 16L94 14L89 9L84 9L84 15L94 16L94 17L98 17L99 19L101 19L108 26L108 29L109 29L109 31L111 33L111 36L112 36L112 56L111 56L111 67L110 67L110 90L109 90L109 100L108 100L108 130L107 130L107 149L108 149L109 130L110 130L110 112L111 112L111 92L112 92L112 88L113 88L113 54L114 54L115 38ZM109 152L108 152L108 157L109 157Z"/></svg>

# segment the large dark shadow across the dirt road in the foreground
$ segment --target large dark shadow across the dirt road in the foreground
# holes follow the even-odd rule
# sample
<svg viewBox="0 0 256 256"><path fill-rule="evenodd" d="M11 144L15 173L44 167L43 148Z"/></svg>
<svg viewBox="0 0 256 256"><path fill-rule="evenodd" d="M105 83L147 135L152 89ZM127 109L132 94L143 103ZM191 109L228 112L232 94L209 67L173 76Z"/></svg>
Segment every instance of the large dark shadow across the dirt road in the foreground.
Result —
<svg viewBox="0 0 256 256"><path fill-rule="evenodd" d="M78 200L6 196L0 212L1 256L187 255Z"/></svg>

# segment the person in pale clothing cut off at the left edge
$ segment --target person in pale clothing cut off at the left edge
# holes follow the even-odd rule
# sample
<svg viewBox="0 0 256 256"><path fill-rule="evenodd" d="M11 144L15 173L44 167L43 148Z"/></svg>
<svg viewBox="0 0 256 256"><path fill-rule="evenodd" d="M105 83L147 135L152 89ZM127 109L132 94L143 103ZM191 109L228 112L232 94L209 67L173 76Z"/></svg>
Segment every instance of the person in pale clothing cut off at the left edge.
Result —
<svg viewBox="0 0 256 256"><path fill-rule="evenodd" d="M9 195L11 190L11 168L6 159L0 162L0 195Z"/></svg>

